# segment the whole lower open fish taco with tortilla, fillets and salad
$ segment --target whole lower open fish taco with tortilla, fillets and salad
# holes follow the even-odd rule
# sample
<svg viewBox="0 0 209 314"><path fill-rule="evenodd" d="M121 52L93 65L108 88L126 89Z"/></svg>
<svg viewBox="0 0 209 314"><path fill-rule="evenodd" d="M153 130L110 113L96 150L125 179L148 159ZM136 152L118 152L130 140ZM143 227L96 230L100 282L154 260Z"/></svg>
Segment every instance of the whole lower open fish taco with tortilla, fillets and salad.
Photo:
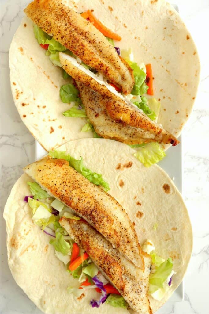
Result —
<svg viewBox="0 0 209 314"><path fill-rule="evenodd" d="M113 158L108 158L112 151ZM109 139L66 143L24 168L5 205L8 264L45 313L154 313L192 251L169 176Z"/></svg>

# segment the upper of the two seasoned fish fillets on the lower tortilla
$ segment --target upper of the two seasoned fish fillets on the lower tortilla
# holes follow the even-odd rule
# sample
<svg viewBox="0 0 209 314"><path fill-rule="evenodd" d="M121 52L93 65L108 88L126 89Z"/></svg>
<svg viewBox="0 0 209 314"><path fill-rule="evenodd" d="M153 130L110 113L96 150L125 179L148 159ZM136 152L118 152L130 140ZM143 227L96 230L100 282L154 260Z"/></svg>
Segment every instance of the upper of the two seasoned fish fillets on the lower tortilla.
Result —
<svg viewBox="0 0 209 314"><path fill-rule="evenodd" d="M124 208L111 195L70 167L64 159L44 157L25 167L24 171L144 270L136 231Z"/></svg>

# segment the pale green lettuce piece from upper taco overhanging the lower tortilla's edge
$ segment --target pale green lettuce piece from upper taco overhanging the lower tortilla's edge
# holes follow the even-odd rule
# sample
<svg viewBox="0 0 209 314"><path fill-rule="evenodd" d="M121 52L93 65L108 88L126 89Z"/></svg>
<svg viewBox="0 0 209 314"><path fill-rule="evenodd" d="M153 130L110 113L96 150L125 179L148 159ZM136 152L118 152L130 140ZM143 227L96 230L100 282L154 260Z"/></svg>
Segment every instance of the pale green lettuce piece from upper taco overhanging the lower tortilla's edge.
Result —
<svg viewBox="0 0 209 314"><path fill-rule="evenodd" d="M139 148L133 156L141 161L145 167L150 167L162 160L166 154L158 143L148 143L144 148Z"/></svg>

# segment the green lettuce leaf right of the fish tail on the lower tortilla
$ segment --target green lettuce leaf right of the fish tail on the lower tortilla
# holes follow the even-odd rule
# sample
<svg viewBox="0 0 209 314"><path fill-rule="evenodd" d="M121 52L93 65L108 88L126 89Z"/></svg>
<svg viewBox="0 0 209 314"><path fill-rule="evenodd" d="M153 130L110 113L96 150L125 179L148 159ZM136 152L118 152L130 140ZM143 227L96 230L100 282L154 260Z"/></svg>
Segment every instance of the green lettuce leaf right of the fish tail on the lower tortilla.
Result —
<svg viewBox="0 0 209 314"><path fill-rule="evenodd" d="M164 283L170 275L173 268L173 262L171 258L168 258L167 261L161 263L153 274L149 276L149 294L153 294L159 288L164 288Z"/></svg>

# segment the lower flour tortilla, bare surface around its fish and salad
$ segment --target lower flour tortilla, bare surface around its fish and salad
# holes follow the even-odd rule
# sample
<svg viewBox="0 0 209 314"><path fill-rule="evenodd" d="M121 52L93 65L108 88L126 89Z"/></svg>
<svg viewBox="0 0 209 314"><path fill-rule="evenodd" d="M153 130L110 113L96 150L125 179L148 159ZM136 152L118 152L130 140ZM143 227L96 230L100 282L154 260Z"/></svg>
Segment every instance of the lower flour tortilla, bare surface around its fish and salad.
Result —
<svg viewBox="0 0 209 314"><path fill-rule="evenodd" d="M172 257L176 272L173 285L163 300L150 297L150 306L155 312L182 281L191 257L191 223L180 193L165 171L157 165L144 167L133 157L133 149L123 143L80 139L59 150L66 150L75 158L82 156L88 168L101 173L111 187L109 193L123 205L135 224L139 242L143 244L149 239L161 257ZM107 158L110 151L111 159ZM32 221L31 209L23 201L25 195L31 194L26 184L28 180L31 178L23 174L15 183L3 214L8 264L17 284L46 313L128 313L107 304L99 309L91 308L89 301L96 297L92 290L85 291L85 297L77 301L67 294L66 288L78 287L78 280L73 279L55 257L54 247L49 245L50 236Z"/></svg>

